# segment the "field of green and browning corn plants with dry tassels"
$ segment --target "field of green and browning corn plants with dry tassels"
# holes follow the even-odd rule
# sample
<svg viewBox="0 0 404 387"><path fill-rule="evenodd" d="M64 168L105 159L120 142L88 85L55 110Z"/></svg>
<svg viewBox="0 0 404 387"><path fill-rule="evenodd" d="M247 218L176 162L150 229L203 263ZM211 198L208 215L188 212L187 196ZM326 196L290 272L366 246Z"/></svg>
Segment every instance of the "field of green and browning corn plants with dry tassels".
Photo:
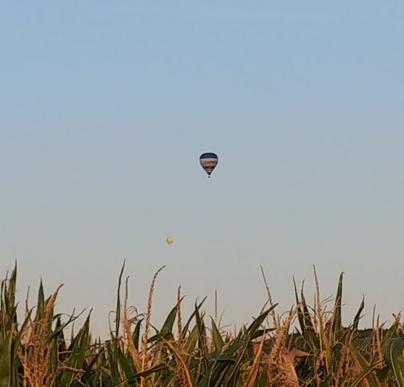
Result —
<svg viewBox="0 0 404 387"><path fill-rule="evenodd" d="M1 281L0 387L404 387L403 325L389 328L374 319L358 329L364 303L348 326L341 324L343 277L333 300L306 303L296 284L296 304L279 317L268 303L250 324L235 333L206 317L204 300L181 315L181 288L161 328L150 322L152 278L145 313L133 315L119 275L117 306L110 337L93 338L90 315L76 334L77 316L56 314L60 288L48 296L39 286L37 305L17 316L17 267ZM123 296L121 296L123 293ZM292 329L297 322L297 329ZM69 333L68 333L69 332Z"/></svg>

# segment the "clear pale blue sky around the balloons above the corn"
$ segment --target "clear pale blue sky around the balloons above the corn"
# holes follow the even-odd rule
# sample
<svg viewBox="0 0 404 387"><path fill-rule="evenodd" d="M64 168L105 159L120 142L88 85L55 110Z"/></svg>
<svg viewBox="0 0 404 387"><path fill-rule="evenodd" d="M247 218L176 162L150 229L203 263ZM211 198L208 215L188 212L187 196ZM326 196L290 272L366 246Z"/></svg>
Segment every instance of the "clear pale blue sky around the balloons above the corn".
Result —
<svg viewBox="0 0 404 387"><path fill-rule="evenodd" d="M222 325L344 276L343 319L404 308L404 3L0 1L0 277L108 332L126 260L152 322ZM219 164L207 179L199 156ZM167 246L167 236L174 243ZM186 314L185 312L183 312Z"/></svg>

